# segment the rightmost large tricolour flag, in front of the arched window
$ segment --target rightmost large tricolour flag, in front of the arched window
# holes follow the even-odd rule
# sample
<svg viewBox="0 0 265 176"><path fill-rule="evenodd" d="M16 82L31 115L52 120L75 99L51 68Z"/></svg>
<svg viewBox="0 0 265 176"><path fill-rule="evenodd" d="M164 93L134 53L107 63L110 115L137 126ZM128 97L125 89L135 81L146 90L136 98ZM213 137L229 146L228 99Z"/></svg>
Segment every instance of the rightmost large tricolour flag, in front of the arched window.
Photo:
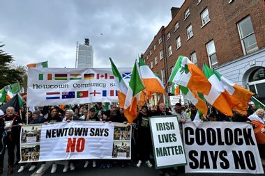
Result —
<svg viewBox="0 0 265 176"><path fill-rule="evenodd" d="M229 79L223 77L222 74L220 74L216 70L213 70L213 73L218 78L223 88L227 90L227 93L229 93L229 95L231 95L233 99L239 101L239 104L237 106L234 106L234 110L238 113L246 115L248 109L248 102L252 95L254 95L254 93L237 85L236 83L233 83L232 81L229 81Z"/></svg>

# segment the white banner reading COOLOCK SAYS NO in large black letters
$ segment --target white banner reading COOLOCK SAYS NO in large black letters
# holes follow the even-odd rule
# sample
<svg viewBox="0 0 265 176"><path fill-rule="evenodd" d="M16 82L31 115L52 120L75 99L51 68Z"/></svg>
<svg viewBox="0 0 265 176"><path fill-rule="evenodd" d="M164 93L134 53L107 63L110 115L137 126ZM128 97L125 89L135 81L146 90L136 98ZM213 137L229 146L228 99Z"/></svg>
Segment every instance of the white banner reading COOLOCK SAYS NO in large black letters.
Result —
<svg viewBox="0 0 265 176"><path fill-rule="evenodd" d="M186 122L186 173L264 173L253 127L243 122Z"/></svg>

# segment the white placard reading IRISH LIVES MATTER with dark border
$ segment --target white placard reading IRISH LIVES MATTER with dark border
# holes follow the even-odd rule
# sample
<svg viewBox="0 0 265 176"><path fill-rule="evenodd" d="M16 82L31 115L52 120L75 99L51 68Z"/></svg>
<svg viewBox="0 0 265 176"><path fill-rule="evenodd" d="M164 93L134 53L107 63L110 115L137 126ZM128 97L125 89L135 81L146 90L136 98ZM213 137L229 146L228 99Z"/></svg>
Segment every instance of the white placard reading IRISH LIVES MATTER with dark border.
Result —
<svg viewBox="0 0 265 176"><path fill-rule="evenodd" d="M149 121L156 168L185 165L185 152L176 116L153 116Z"/></svg>

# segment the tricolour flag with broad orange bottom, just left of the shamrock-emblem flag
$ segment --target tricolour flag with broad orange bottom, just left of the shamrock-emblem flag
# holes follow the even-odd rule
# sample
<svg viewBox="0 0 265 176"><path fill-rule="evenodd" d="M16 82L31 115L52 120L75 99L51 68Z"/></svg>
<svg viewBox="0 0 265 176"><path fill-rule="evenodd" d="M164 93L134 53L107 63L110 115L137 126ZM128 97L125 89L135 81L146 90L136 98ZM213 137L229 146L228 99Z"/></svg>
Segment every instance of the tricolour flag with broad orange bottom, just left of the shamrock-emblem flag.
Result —
<svg viewBox="0 0 265 176"><path fill-rule="evenodd" d="M142 82L144 83L146 94L149 98L153 93L166 94L165 86L162 81L159 77L156 77L149 66L146 65L141 58L139 58L139 72L142 77Z"/></svg>

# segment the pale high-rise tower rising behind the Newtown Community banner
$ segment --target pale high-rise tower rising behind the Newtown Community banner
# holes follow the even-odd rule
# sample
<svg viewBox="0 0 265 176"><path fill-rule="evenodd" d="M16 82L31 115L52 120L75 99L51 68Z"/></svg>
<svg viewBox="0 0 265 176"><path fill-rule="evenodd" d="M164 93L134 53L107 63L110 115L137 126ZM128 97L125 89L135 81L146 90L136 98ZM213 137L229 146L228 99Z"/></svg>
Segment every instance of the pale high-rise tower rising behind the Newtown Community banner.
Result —
<svg viewBox="0 0 265 176"><path fill-rule="evenodd" d="M78 45L78 68L93 67L93 47L89 45L89 39L84 39L84 45Z"/></svg>

